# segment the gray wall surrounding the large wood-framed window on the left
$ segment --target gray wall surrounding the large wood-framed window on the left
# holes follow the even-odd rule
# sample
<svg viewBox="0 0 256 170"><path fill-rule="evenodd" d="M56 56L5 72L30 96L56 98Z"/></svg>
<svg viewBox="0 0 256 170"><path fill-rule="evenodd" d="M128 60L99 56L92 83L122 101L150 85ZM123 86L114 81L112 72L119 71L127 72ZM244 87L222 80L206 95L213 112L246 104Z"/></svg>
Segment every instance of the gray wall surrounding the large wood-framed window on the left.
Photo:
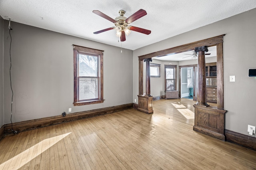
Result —
<svg viewBox="0 0 256 170"><path fill-rule="evenodd" d="M74 113L132 103L132 50L123 49L121 53L120 47L15 22L11 26L13 122L61 115L63 111L69 113L68 108ZM4 124L10 123L11 109L7 27L5 20ZM73 106L72 44L104 50L104 103Z"/></svg>

